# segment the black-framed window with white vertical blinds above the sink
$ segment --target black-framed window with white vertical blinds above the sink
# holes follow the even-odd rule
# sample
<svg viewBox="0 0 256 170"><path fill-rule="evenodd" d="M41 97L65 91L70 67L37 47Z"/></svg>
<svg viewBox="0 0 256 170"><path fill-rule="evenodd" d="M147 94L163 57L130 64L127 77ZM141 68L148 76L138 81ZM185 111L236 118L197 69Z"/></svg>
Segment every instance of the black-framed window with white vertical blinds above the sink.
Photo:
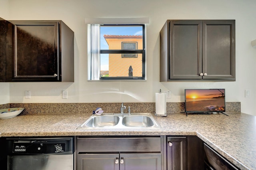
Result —
<svg viewBox="0 0 256 170"><path fill-rule="evenodd" d="M88 79L145 79L145 24L89 27Z"/></svg>

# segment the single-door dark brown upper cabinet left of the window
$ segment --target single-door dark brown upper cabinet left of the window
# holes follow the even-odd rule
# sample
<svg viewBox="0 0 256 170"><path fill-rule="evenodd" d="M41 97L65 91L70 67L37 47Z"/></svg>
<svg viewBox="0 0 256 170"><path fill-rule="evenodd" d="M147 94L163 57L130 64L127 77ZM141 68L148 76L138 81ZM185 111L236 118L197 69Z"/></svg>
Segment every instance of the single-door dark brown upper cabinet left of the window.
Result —
<svg viewBox="0 0 256 170"><path fill-rule="evenodd" d="M6 81L74 82L74 32L62 21L10 21Z"/></svg>

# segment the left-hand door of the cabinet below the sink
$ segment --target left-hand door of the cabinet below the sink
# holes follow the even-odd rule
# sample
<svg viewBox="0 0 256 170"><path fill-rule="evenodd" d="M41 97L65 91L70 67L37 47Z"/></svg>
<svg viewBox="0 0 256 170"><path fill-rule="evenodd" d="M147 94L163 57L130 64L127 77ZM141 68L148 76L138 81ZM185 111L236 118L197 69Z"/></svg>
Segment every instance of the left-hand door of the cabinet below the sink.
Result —
<svg viewBox="0 0 256 170"><path fill-rule="evenodd" d="M78 154L77 170L119 170L119 154Z"/></svg>

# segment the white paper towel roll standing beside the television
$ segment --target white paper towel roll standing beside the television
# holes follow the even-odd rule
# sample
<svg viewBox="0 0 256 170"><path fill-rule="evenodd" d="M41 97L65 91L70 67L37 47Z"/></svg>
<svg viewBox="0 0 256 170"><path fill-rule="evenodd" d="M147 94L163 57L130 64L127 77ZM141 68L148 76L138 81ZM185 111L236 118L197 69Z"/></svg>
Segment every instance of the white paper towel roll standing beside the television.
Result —
<svg viewBox="0 0 256 170"><path fill-rule="evenodd" d="M156 114L166 115L166 93L156 93Z"/></svg>

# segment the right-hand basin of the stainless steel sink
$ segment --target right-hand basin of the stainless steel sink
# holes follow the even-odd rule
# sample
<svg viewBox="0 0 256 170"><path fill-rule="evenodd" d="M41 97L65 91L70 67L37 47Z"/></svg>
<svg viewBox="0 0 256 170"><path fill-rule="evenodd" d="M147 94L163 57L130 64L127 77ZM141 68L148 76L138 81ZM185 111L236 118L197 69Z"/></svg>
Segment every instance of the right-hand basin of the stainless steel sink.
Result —
<svg viewBox="0 0 256 170"><path fill-rule="evenodd" d="M126 127L152 127L154 122L148 116L134 115L124 117L123 125Z"/></svg>

